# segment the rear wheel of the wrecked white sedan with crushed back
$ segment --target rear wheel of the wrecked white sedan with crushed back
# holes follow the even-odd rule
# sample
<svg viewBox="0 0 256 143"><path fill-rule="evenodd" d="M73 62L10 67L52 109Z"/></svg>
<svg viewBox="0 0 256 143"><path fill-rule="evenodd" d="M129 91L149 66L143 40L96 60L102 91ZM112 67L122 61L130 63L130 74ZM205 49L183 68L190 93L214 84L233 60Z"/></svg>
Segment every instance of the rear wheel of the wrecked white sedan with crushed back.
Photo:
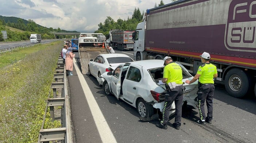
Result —
<svg viewBox="0 0 256 143"><path fill-rule="evenodd" d="M138 100L136 108L141 117L150 118L154 114L153 106L147 104L142 98Z"/></svg>

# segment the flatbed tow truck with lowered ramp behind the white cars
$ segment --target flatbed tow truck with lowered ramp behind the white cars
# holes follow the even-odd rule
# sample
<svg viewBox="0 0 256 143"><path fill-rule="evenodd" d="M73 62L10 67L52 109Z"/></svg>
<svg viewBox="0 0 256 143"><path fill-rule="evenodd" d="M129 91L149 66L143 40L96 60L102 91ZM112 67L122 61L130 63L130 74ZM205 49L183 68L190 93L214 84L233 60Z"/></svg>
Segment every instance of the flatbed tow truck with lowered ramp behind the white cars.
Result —
<svg viewBox="0 0 256 143"><path fill-rule="evenodd" d="M78 52L83 74L88 72L90 59L99 54L109 53L105 45L105 36L102 33L80 33L78 38Z"/></svg>

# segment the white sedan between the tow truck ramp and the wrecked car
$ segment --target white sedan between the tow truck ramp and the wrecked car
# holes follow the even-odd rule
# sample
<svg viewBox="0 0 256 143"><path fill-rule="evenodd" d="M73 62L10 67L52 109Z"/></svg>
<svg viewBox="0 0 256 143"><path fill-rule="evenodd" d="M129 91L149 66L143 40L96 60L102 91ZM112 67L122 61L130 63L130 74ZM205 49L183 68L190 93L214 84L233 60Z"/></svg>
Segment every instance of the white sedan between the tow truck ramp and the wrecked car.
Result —
<svg viewBox="0 0 256 143"><path fill-rule="evenodd" d="M134 60L125 54L100 54L95 59L90 59L88 63L88 75L93 75L97 78L99 85L102 85L101 75L104 72L109 72L111 67L114 69L120 63L133 62Z"/></svg>

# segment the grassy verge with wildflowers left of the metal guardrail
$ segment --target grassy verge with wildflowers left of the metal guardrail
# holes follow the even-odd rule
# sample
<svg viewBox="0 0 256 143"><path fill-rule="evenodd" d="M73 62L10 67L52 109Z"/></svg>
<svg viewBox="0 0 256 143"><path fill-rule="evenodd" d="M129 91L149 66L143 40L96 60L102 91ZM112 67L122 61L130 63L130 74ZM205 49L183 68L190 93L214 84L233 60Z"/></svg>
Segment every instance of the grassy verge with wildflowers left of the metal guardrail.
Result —
<svg viewBox="0 0 256 143"><path fill-rule="evenodd" d="M0 142L37 142L62 46L58 41L0 55ZM44 129L60 126L47 113Z"/></svg>

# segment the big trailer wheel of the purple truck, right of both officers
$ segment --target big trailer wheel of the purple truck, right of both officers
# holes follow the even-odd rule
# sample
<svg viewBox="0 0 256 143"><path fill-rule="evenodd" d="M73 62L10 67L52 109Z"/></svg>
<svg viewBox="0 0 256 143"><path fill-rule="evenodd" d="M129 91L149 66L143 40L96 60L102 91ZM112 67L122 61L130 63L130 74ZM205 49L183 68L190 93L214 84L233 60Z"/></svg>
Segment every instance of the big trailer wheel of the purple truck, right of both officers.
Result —
<svg viewBox="0 0 256 143"><path fill-rule="evenodd" d="M233 97L244 97L249 89L247 74L239 68L229 70L225 76L225 88L228 94Z"/></svg>

